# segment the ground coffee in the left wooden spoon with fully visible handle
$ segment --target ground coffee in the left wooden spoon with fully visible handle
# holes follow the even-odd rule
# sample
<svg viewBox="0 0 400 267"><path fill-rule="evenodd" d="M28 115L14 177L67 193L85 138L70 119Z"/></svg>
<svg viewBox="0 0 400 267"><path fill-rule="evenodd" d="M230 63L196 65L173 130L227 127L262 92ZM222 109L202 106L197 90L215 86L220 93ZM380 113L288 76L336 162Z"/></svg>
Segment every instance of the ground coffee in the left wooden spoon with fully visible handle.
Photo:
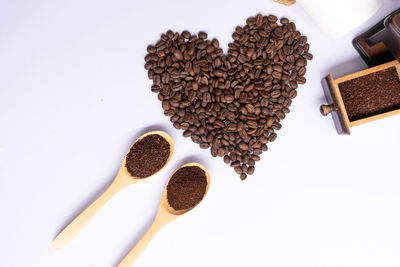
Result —
<svg viewBox="0 0 400 267"><path fill-rule="evenodd" d="M164 167L169 154L167 140L158 134L148 135L131 147L125 166L134 177L149 177Z"/></svg>

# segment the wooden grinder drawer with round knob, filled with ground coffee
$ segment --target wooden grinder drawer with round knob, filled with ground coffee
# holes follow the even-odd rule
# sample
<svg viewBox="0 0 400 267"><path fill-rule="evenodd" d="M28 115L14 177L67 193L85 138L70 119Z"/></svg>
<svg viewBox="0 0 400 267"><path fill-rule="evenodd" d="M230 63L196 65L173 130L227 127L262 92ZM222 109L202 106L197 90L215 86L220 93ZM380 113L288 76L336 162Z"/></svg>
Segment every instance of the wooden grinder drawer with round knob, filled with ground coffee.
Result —
<svg viewBox="0 0 400 267"><path fill-rule="evenodd" d="M332 114L340 134L350 128L400 114L400 63L397 60L360 72L322 81L326 105L323 115Z"/></svg>

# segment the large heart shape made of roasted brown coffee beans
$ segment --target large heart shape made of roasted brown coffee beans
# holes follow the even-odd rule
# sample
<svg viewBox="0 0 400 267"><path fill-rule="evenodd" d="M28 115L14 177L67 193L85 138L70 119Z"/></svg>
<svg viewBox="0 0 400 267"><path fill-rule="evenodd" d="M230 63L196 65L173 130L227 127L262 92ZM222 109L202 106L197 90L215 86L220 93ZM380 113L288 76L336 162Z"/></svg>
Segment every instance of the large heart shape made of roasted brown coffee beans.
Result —
<svg viewBox="0 0 400 267"><path fill-rule="evenodd" d="M276 138L312 59L307 37L287 18L250 17L227 54L205 32L168 31L147 47L145 69L164 114L246 179Z"/></svg>

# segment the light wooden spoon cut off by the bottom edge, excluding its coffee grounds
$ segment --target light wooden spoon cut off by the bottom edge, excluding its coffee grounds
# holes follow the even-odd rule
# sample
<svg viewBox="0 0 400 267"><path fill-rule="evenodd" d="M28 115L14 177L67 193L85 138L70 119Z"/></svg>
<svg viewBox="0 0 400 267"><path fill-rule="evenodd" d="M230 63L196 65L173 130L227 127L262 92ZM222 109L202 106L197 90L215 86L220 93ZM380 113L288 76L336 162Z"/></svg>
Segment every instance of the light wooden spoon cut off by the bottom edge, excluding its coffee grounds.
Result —
<svg viewBox="0 0 400 267"><path fill-rule="evenodd" d="M206 178L207 178L207 187L206 187L206 191L204 192L204 196L205 196L208 192L208 187L210 185L210 174L208 173L207 169L203 165L201 165L199 163L195 163L195 162L182 165L179 169L181 169L183 167L190 167L190 166L199 167L205 172ZM176 170L176 171L178 171L178 170ZM175 172L174 172L174 174L175 174ZM174 174L172 176L174 176ZM142 237L142 239L140 239L140 241L132 248L132 250L129 251L129 253L121 261L121 263L118 265L118 267L132 266L135 263L135 261L137 260L137 258L140 256L140 254L147 247L147 245L150 243L150 241L153 239L153 237L158 233L158 231L161 230L161 228L163 228L165 225L172 222L173 220L177 219L178 217L182 216L189 210L193 209L201 202L200 201L199 203L197 203L196 205L194 205L193 207L191 207L189 209L175 210L168 203L167 186L168 186L168 183L164 188L164 193L161 197L160 205L158 206L158 211L157 211L156 217L153 221L153 224L150 226L149 230L147 230L146 234ZM203 199L204 199L204 196L203 196Z"/></svg>

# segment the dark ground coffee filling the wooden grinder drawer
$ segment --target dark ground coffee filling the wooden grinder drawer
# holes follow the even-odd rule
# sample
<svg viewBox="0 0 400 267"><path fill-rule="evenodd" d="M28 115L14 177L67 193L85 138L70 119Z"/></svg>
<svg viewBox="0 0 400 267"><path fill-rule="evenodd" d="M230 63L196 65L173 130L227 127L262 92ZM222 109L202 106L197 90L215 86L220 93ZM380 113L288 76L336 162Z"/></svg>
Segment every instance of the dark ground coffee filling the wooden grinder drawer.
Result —
<svg viewBox="0 0 400 267"><path fill-rule="evenodd" d="M350 121L400 108L400 79L392 67L339 84Z"/></svg>

